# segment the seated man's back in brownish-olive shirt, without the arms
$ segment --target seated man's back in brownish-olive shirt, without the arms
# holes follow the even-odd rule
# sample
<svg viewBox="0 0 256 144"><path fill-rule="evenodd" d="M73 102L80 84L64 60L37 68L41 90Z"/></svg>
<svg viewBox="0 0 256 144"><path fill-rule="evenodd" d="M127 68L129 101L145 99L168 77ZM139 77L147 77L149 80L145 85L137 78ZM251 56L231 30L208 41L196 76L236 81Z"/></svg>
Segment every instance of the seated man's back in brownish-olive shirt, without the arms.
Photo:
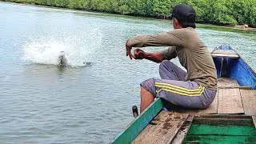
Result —
<svg viewBox="0 0 256 144"><path fill-rule="evenodd" d="M182 66L187 70L186 80L193 80L199 85L217 89L217 75L214 61L205 44L191 27L179 29L178 37L183 42L175 50Z"/></svg>

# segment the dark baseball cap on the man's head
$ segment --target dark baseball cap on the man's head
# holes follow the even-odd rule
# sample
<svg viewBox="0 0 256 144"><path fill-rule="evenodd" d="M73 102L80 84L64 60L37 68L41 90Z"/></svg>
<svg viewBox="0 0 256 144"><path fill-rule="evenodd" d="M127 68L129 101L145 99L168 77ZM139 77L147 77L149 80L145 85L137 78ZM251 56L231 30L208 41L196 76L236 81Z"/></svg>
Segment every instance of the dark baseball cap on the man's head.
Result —
<svg viewBox="0 0 256 144"><path fill-rule="evenodd" d="M196 13L192 6L179 4L174 6L174 10L170 18L177 18L179 22L195 23Z"/></svg>

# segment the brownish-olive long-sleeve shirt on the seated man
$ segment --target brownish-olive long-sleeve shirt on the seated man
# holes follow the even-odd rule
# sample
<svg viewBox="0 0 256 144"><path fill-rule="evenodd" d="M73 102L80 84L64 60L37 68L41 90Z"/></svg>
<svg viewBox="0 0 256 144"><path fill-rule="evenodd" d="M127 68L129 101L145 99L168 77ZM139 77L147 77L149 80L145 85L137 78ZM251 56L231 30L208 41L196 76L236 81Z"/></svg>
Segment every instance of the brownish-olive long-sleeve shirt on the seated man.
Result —
<svg viewBox="0 0 256 144"><path fill-rule="evenodd" d="M179 62L187 70L186 80L217 90L217 72L213 58L194 28L176 29L165 34L141 35L131 38L127 45L130 47L171 46L160 52L163 59L170 60L178 56Z"/></svg>

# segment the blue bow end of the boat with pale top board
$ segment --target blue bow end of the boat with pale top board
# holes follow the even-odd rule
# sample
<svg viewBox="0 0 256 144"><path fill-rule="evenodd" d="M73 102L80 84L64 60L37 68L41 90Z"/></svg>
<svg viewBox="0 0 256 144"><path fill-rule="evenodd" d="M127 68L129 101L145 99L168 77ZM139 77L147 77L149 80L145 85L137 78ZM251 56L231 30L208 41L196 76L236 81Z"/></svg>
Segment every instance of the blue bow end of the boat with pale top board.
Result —
<svg viewBox="0 0 256 144"><path fill-rule="evenodd" d="M256 74L230 46L219 46L212 52L218 77L228 77L236 80L240 86L250 86L256 89Z"/></svg>

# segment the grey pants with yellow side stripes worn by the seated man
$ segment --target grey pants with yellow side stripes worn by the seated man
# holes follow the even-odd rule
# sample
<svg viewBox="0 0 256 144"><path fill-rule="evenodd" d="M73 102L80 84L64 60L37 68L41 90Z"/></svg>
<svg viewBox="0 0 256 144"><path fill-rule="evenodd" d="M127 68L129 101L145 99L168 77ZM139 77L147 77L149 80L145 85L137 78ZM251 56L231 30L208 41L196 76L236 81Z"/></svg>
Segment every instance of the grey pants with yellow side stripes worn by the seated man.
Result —
<svg viewBox="0 0 256 144"><path fill-rule="evenodd" d="M141 83L154 97L193 109L206 108L214 101L217 90L207 89L197 82L185 81L186 72L170 61L162 61L159 74L162 79L150 78Z"/></svg>

